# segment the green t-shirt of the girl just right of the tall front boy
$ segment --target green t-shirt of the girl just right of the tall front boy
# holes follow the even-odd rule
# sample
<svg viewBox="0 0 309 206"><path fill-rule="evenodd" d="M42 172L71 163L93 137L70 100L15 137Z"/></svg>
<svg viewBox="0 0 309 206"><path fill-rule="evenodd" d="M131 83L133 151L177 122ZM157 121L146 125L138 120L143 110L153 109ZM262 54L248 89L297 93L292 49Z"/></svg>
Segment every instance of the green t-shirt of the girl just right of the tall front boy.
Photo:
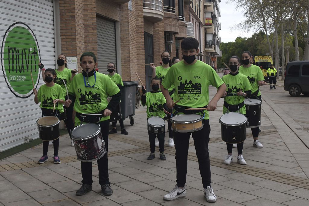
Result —
<svg viewBox="0 0 309 206"><path fill-rule="evenodd" d="M241 89L243 92L251 90L251 84L248 78L240 73L236 75L232 75L231 73L228 75L222 76L223 82L226 84L226 97L224 100L229 105L238 105L245 100L245 97L237 96L237 92ZM241 114L246 114L246 107L243 105L240 109ZM223 114L226 113L227 108L223 105Z"/></svg>

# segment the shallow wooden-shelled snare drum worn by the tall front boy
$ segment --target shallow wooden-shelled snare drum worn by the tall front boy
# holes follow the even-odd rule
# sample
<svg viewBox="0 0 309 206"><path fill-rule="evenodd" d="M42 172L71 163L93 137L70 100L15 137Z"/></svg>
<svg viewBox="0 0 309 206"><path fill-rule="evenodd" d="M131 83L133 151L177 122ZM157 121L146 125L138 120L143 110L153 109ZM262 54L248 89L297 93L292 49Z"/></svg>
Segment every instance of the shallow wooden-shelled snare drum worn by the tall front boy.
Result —
<svg viewBox="0 0 309 206"><path fill-rule="evenodd" d="M203 128L203 117L198 114L179 114L171 118L171 129L176 132L194 132Z"/></svg>

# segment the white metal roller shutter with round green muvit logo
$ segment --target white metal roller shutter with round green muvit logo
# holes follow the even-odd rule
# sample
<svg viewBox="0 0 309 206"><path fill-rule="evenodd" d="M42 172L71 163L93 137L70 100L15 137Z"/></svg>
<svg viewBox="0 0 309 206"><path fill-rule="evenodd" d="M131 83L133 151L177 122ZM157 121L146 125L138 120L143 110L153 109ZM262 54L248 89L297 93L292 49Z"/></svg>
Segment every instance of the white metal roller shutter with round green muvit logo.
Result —
<svg viewBox="0 0 309 206"><path fill-rule="evenodd" d="M32 80L44 84L39 62L55 68L52 0L0 0L0 151L39 137L41 109L33 101ZM3 75L2 75L3 74Z"/></svg>

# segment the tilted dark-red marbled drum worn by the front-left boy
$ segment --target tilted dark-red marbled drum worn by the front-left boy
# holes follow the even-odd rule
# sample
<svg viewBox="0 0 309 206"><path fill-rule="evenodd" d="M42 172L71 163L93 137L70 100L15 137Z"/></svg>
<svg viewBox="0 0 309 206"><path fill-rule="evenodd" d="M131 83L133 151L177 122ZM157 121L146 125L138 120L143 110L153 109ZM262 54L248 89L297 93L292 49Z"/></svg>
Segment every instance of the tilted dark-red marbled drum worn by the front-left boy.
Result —
<svg viewBox="0 0 309 206"><path fill-rule="evenodd" d="M94 123L82 124L71 133L77 159L92 162L100 159L106 153L105 143L99 125Z"/></svg>

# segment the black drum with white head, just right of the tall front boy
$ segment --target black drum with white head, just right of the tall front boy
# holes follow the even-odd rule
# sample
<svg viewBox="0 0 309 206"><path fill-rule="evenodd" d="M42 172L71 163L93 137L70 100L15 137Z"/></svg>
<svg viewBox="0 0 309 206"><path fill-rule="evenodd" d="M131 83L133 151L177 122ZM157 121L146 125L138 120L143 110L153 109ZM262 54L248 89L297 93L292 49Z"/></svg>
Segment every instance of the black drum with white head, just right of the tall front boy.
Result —
<svg viewBox="0 0 309 206"><path fill-rule="evenodd" d="M221 123L221 138L231 144L241 143L246 139L247 117L244 114L230 112L223 114Z"/></svg>

